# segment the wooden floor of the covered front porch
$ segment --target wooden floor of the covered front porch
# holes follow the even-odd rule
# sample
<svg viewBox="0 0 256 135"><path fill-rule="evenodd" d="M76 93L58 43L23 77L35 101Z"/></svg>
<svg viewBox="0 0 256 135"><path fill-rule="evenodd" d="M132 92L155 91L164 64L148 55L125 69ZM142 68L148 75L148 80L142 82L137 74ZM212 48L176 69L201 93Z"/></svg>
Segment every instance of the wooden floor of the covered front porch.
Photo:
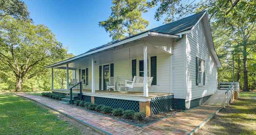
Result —
<svg viewBox="0 0 256 135"><path fill-rule="evenodd" d="M60 93L69 93L67 89L54 89L53 92L60 92ZM79 93L80 90L72 90L73 92ZM90 89L82 89L82 93L84 94L92 94ZM127 97L143 97L143 92L118 92L118 91L106 91L106 90L95 90L95 94L100 95L113 95L113 96L127 96ZM159 97L159 96L168 96L173 95L170 93L148 93L148 97L146 98L153 98L153 97Z"/></svg>

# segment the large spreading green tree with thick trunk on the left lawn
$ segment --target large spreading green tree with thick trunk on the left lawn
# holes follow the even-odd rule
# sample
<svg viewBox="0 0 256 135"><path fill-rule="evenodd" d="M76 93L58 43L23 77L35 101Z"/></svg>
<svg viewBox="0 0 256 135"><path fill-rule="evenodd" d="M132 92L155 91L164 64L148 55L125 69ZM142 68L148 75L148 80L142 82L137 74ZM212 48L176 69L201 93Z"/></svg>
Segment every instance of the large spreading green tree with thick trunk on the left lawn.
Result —
<svg viewBox="0 0 256 135"><path fill-rule="evenodd" d="M67 50L44 25L5 16L0 20L0 62L15 76L16 91L24 81L45 73L45 65L64 59Z"/></svg>

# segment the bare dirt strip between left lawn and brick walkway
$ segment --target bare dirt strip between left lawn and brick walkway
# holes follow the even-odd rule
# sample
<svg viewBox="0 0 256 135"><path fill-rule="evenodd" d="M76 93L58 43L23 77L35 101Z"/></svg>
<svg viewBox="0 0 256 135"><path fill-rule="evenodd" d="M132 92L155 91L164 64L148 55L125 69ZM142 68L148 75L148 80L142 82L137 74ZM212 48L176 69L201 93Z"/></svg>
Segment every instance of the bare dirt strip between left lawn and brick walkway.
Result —
<svg viewBox="0 0 256 135"><path fill-rule="evenodd" d="M53 111L52 109L49 109L49 108L45 107L42 104L39 104L39 103L36 103L36 104L41 106L42 108L48 109L49 112L51 112L54 115L56 115L58 119L67 121L70 126L75 126L77 128L77 130L79 130L80 133L83 134L83 135L101 135L98 132L96 132L95 130L93 130L92 128L87 127L87 126L79 123L76 120L70 119L69 117L67 117L65 115L62 115L59 112Z"/></svg>

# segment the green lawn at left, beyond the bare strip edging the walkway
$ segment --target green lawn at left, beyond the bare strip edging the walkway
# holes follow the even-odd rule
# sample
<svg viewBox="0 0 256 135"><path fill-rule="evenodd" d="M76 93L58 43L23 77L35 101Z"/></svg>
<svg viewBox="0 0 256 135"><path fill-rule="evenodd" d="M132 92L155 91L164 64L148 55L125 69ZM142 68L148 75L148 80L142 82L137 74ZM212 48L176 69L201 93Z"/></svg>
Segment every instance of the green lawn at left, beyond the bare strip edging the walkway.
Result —
<svg viewBox="0 0 256 135"><path fill-rule="evenodd" d="M33 101L11 94L0 95L1 135L80 134L75 126L60 120Z"/></svg>

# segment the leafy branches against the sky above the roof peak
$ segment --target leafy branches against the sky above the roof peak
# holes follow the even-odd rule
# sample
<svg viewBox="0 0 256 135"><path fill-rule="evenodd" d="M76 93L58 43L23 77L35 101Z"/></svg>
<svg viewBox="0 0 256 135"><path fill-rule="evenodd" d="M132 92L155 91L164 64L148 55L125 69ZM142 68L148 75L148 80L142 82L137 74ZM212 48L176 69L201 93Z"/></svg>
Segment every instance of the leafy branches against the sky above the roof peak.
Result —
<svg viewBox="0 0 256 135"><path fill-rule="evenodd" d="M152 0L152 5L159 5L155 12L155 19L159 21L163 15L166 15L165 23L173 22L173 20L184 18L191 13L207 10L210 13L209 19L217 13L224 15L236 7L240 0L202 0L196 3L196 0Z"/></svg>

